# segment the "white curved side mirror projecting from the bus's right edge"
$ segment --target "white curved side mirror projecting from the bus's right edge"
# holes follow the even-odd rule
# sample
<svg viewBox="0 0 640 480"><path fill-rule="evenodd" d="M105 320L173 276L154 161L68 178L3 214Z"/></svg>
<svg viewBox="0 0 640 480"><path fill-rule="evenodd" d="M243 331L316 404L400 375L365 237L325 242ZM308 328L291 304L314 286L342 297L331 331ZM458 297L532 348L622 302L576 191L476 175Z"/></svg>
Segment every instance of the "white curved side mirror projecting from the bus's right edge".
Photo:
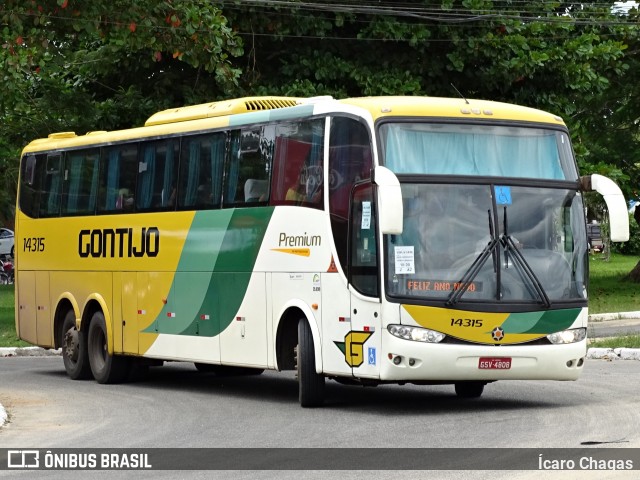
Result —
<svg viewBox="0 0 640 480"><path fill-rule="evenodd" d="M580 185L585 192L598 192L604 198L609 210L609 225L612 242L629 240L629 212L622 190L616 183L602 175L580 177Z"/></svg>

